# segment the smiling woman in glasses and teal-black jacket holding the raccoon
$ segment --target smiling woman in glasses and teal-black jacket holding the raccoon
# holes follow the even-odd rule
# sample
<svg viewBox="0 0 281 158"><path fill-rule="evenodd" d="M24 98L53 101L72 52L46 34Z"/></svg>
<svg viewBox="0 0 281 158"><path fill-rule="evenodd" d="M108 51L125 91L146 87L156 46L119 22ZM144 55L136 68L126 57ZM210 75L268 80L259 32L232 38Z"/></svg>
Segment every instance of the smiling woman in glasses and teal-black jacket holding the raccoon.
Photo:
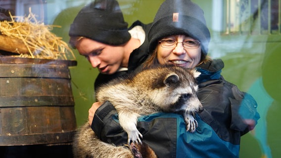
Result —
<svg viewBox="0 0 281 158"><path fill-rule="evenodd" d="M151 54L142 66L170 63L201 73L196 94L204 110L196 114L198 127L194 133L186 131L181 115L143 116L138 122L141 141L158 158L238 158L240 137L259 119L257 104L221 76L222 60L207 57L210 32L202 9L190 0L164 1L148 32L148 41ZM93 105L97 106L99 103ZM123 145L127 135L116 123L115 114L114 107L105 102L95 111L92 128L102 141Z"/></svg>

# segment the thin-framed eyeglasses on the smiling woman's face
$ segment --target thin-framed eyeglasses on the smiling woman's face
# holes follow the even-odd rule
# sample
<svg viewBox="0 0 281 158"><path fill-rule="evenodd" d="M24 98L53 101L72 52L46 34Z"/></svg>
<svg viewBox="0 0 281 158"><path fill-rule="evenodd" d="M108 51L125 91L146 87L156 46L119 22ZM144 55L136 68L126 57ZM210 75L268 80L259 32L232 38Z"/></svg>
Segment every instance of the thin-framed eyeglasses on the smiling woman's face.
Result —
<svg viewBox="0 0 281 158"><path fill-rule="evenodd" d="M197 49L201 42L198 40L184 40L184 41L176 41L171 39L159 40L159 44L163 48L175 48L178 45L178 43L183 43L183 46L188 49Z"/></svg>

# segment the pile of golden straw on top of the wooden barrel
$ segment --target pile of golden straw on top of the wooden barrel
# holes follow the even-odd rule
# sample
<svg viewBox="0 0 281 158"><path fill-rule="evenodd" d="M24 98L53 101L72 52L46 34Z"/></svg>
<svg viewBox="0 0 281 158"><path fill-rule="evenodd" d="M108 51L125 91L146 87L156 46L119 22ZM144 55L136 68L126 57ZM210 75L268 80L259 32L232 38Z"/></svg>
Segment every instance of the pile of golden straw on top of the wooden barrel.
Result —
<svg viewBox="0 0 281 158"><path fill-rule="evenodd" d="M61 59L73 60L76 59L74 53L69 48L68 44L51 33L53 27L60 27L55 25L44 25L37 21L36 16L29 8L29 15L12 16L11 21L0 21L0 36L17 39L25 45L28 52L18 52L17 57L26 58L41 58L41 59ZM3 43L1 43L3 42ZM0 41L4 44L5 41ZM19 50L17 46L20 44L10 44L14 50Z"/></svg>

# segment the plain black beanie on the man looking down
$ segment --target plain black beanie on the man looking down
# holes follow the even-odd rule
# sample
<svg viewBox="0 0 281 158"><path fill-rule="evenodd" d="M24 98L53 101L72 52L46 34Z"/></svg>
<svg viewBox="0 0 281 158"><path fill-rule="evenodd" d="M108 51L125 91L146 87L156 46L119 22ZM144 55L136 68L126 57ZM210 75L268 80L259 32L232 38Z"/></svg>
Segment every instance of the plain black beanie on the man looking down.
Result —
<svg viewBox="0 0 281 158"><path fill-rule="evenodd" d="M116 0L95 0L82 8L70 26L69 36L111 45L124 44L131 39L128 23Z"/></svg>

